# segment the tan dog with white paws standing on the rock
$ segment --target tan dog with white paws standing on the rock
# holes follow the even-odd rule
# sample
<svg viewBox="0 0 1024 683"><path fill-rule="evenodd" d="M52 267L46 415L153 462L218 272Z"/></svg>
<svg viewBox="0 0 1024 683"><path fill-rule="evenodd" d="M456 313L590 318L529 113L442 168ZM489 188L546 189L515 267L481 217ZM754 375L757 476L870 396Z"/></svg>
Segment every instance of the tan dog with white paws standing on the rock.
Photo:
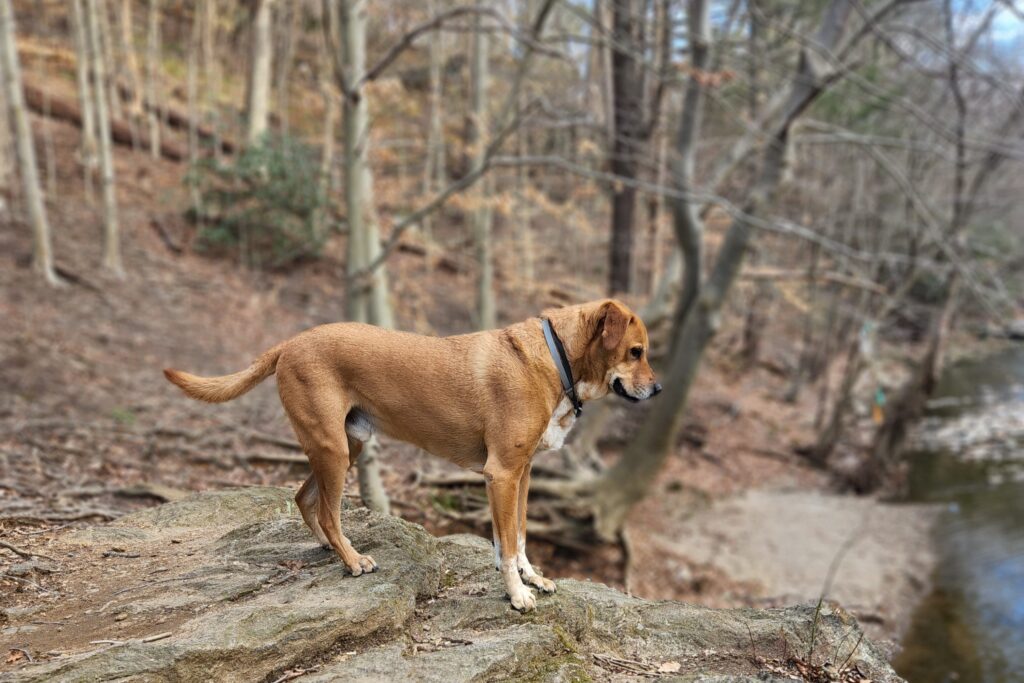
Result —
<svg viewBox="0 0 1024 683"><path fill-rule="evenodd" d="M607 299L545 316L564 344L580 399L610 390L641 400L660 391L647 362L647 330L623 303ZM240 396L274 373L312 469L295 500L313 535L352 574L377 564L342 533L345 474L380 431L483 474L496 564L515 608L536 605L523 581L555 590L526 559L526 489L534 454L561 447L575 412L542 319L443 338L338 323L303 332L233 375L164 371L186 394L211 402Z"/></svg>

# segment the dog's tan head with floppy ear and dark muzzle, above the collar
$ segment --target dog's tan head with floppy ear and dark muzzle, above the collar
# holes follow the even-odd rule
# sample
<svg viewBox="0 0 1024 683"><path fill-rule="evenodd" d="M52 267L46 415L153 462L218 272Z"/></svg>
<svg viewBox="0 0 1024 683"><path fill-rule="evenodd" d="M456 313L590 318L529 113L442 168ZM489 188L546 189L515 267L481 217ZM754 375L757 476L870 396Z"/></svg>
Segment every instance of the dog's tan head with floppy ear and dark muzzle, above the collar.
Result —
<svg viewBox="0 0 1024 683"><path fill-rule="evenodd" d="M604 299L545 314L556 319L559 334L568 333L572 356L584 359L578 379L585 384L585 400L612 391L639 401L662 390L647 358L647 328L622 301Z"/></svg>

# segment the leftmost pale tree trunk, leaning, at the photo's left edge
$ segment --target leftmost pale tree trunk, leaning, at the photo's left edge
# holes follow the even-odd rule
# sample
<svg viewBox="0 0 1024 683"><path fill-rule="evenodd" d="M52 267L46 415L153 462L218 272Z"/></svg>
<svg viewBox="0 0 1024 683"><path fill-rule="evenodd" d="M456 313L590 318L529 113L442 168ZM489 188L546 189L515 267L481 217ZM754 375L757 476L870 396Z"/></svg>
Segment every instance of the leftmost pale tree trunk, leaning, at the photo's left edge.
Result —
<svg viewBox="0 0 1024 683"><path fill-rule="evenodd" d="M32 224L32 265L50 285L58 283L53 271L53 251L50 248L50 225L46 219L43 196L39 189L39 168L33 145L32 127L25 110L22 90L22 67L17 60L15 44L14 10L10 2L0 2L0 77L7 116L14 126L17 166L22 174L25 203ZM3 152L6 152L4 150Z"/></svg>

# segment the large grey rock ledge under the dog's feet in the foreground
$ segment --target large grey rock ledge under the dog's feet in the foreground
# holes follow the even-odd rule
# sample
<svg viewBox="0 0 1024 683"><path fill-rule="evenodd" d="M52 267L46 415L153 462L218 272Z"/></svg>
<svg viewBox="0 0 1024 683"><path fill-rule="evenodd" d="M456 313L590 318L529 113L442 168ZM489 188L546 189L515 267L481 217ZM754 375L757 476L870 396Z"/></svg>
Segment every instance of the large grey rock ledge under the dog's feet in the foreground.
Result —
<svg viewBox="0 0 1024 683"><path fill-rule="evenodd" d="M75 566L61 597L7 609L0 631L3 652L37 661L0 680L900 680L835 606L818 616L813 657L813 605L708 609L566 580L520 614L485 540L365 509L345 510L344 527L381 570L352 578L292 496L201 494L66 533L47 548Z"/></svg>

